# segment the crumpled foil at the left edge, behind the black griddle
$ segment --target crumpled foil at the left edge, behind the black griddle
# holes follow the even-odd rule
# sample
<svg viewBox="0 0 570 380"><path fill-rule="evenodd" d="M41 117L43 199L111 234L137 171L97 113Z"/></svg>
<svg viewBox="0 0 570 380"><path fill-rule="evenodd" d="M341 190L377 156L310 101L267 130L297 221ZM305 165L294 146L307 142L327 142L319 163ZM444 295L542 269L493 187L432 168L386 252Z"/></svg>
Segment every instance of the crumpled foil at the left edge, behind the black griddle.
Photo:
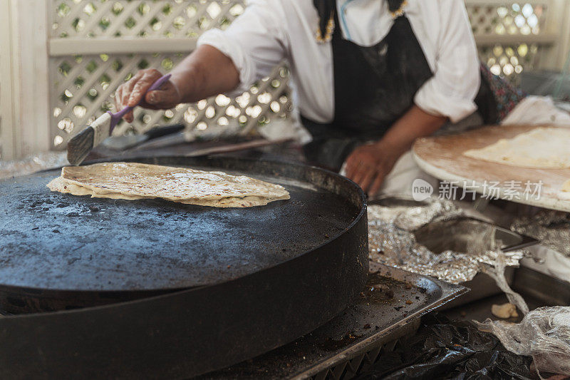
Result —
<svg viewBox="0 0 570 380"><path fill-rule="evenodd" d="M36 173L39 170L69 165L66 152L44 152L23 160L0 161L0 178L17 177Z"/></svg>

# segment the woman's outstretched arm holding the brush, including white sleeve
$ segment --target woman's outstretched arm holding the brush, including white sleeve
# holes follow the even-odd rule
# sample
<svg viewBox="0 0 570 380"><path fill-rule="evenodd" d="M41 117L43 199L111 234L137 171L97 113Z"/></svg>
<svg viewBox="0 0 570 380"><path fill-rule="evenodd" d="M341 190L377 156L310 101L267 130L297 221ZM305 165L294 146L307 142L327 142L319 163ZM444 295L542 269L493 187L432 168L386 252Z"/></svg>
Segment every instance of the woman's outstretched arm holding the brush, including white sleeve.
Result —
<svg viewBox="0 0 570 380"><path fill-rule="evenodd" d="M165 109L228 93L266 76L286 55L285 11L281 0L249 0L244 13L224 31L212 29L200 36L198 48L172 71L160 91L152 91L141 106ZM115 93L118 110L133 106L161 74L139 71ZM133 113L125 115L129 123Z"/></svg>

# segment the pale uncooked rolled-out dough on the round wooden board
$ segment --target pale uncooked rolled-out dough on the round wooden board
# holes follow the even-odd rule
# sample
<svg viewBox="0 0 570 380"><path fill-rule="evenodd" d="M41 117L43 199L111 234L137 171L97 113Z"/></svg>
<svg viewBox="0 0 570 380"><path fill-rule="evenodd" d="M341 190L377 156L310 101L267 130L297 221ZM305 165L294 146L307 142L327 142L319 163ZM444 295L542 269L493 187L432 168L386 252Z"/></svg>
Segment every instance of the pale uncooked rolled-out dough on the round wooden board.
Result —
<svg viewBox="0 0 570 380"><path fill-rule="evenodd" d="M570 168L570 128L540 127L514 138L502 139L467 157L522 168Z"/></svg>

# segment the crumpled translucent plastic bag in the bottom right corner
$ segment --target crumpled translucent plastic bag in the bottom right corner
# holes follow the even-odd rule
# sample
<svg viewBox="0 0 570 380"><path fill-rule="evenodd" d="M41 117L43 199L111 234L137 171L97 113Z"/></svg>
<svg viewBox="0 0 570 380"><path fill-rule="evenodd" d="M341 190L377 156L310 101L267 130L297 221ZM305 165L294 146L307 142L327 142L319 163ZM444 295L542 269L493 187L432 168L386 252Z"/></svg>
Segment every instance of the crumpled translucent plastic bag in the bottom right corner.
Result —
<svg viewBox="0 0 570 380"><path fill-rule="evenodd" d="M570 376L570 307L539 307L519 324L475 322L517 355L532 356L537 371Z"/></svg>

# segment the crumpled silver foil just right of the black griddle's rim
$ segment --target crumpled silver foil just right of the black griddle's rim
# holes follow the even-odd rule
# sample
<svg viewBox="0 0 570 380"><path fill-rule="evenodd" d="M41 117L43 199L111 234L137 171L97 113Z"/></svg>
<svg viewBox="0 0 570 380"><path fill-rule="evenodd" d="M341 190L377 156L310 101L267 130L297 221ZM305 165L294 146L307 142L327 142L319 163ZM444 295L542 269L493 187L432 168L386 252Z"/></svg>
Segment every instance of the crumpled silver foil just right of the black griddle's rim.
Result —
<svg viewBox="0 0 570 380"><path fill-rule="evenodd" d="M418 274L459 284L492 267L501 251L494 247L494 229L484 236L471 233L470 252L431 252L416 240L413 231L432 222L454 220L462 211L447 200L432 200L415 207L368 206L368 245L371 260ZM463 232L470 234L470 230ZM489 242L493 242L489 246ZM491 249L488 249L491 248ZM518 266L523 251L504 252L505 265Z"/></svg>

